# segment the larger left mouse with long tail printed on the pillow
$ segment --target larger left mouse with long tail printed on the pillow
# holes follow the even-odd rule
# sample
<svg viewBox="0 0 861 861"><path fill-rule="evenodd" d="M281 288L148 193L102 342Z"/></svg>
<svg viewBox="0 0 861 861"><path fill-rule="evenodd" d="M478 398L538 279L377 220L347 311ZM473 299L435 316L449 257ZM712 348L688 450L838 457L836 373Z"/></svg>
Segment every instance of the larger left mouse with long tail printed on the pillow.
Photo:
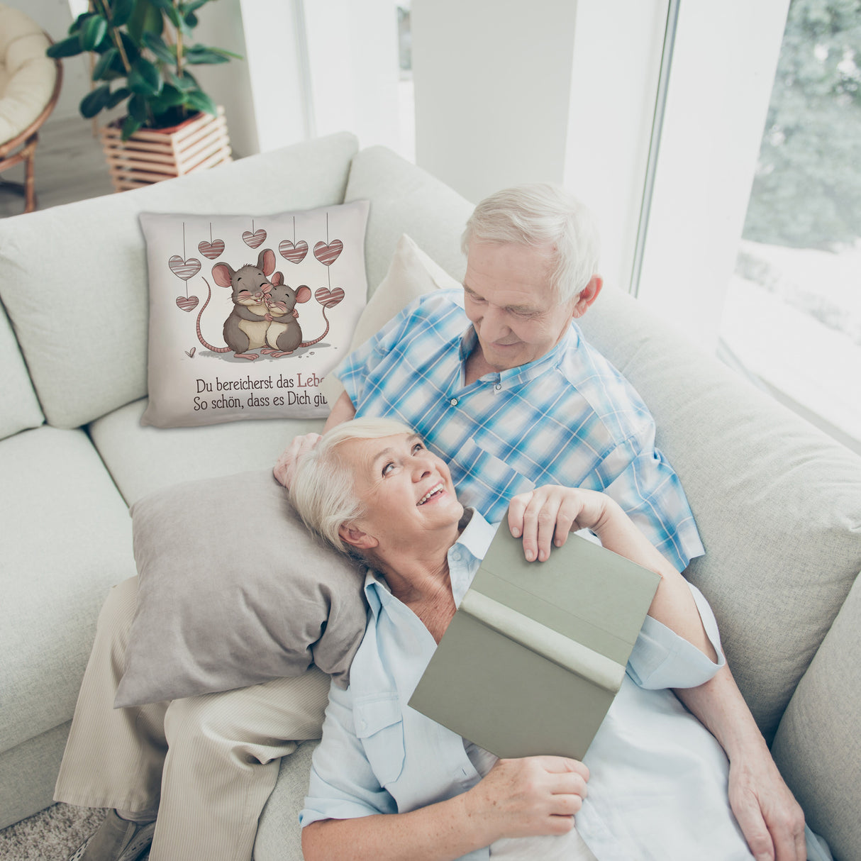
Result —
<svg viewBox="0 0 861 861"><path fill-rule="evenodd" d="M208 350L214 353L229 353L238 359L253 361L259 356L251 350L257 350L266 345L266 332L269 330L271 318L266 319L269 307L266 297L272 289L269 276L275 271L275 251L264 248L257 256L257 264L245 263L239 269L233 269L229 263L216 263L213 266L213 279L219 287L232 288L231 299L233 308L224 323L224 340L226 347L214 347L203 338L201 318L212 299L212 288L207 285L207 300L197 314L197 338Z"/></svg>

